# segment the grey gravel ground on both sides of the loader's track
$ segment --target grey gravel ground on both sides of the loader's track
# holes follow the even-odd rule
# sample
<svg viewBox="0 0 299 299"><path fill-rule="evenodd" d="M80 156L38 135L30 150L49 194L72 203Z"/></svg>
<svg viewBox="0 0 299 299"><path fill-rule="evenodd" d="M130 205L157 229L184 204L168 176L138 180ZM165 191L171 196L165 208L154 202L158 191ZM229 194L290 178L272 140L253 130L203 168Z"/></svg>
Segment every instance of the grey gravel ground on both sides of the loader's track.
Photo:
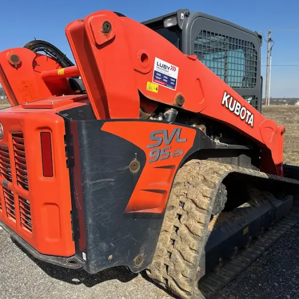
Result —
<svg viewBox="0 0 299 299"><path fill-rule="evenodd" d="M217 299L299 299L299 225L293 227ZM0 299L172 299L126 268L88 275L33 259L0 229Z"/></svg>

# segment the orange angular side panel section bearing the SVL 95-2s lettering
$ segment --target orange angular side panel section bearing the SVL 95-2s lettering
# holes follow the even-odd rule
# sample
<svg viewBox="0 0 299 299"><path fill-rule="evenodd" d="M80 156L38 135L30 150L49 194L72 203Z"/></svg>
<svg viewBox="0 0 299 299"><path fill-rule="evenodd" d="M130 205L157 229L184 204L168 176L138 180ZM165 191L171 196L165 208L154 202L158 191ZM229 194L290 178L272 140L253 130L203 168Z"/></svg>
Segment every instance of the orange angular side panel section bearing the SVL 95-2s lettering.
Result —
<svg viewBox="0 0 299 299"><path fill-rule="evenodd" d="M102 130L130 141L147 156L126 212L162 213L176 170L193 146L196 131L159 122L107 122Z"/></svg>

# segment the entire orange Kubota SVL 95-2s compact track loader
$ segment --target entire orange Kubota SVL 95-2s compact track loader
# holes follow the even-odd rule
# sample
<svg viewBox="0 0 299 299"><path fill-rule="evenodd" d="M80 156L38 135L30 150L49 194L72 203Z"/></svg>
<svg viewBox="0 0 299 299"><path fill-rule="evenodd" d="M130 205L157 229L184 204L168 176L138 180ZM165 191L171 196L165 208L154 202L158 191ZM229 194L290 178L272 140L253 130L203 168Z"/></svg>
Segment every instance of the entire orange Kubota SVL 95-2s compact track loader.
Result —
<svg viewBox="0 0 299 299"><path fill-rule="evenodd" d="M261 37L187 9L65 32L76 65L43 41L0 53L1 226L43 261L210 298L299 221Z"/></svg>

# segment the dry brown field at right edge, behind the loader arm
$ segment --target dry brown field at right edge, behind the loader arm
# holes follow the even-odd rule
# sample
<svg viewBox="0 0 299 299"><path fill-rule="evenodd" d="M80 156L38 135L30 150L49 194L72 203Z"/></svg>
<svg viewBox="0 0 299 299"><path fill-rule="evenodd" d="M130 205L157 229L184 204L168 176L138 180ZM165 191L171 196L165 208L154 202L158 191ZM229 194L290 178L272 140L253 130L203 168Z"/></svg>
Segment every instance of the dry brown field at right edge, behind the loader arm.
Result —
<svg viewBox="0 0 299 299"><path fill-rule="evenodd" d="M284 141L285 163L299 165L299 106L287 105L263 106L265 117L286 127Z"/></svg>

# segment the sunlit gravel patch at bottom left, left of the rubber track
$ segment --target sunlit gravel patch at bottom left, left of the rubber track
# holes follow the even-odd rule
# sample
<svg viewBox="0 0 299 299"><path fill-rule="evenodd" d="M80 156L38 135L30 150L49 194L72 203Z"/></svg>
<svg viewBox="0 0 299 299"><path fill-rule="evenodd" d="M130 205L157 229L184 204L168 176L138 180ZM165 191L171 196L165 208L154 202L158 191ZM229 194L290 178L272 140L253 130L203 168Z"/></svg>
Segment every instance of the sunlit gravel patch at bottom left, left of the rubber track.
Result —
<svg viewBox="0 0 299 299"><path fill-rule="evenodd" d="M0 299L170 299L141 275L111 268L89 275L38 261L0 228Z"/></svg>

